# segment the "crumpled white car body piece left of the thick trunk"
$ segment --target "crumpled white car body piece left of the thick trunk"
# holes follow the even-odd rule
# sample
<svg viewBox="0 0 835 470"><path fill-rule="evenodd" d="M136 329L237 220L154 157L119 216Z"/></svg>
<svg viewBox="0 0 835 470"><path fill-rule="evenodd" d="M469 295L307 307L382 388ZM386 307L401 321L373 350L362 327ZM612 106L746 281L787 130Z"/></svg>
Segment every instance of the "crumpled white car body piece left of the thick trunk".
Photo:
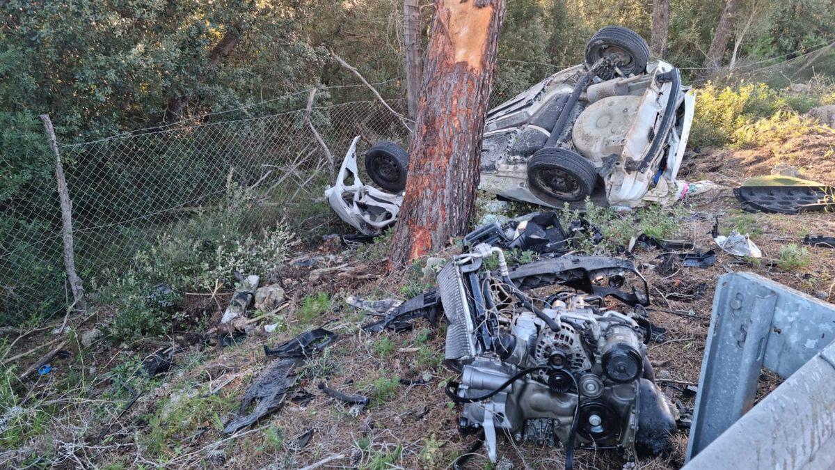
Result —
<svg viewBox="0 0 835 470"><path fill-rule="evenodd" d="M364 235L382 232L397 221L402 193L391 194L363 184L357 171L357 141L354 137L333 186L325 189L325 197L339 218Z"/></svg>

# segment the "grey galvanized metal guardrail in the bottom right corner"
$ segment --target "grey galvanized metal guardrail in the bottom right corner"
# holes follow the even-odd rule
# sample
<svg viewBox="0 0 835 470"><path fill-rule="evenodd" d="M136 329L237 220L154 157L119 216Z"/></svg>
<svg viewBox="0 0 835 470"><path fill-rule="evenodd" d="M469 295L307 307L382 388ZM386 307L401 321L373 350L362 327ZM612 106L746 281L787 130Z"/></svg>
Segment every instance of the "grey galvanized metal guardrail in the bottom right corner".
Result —
<svg viewBox="0 0 835 470"><path fill-rule="evenodd" d="M685 468L833 467L835 305L726 274L709 331ZM753 406L762 367L787 380Z"/></svg>

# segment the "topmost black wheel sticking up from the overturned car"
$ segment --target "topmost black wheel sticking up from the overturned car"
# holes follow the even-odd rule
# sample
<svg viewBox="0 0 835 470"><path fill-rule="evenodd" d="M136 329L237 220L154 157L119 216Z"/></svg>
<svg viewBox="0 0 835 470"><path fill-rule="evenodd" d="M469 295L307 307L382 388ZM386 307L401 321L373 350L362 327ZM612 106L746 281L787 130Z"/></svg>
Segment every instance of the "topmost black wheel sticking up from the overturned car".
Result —
<svg viewBox="0 0 835 470"><path fill-rule="evenodd" d="M598 60L609 57L625 76L640 75L646 71L650 60L650 46L640 34L622 26L600 29L585 44L585 64L589 67ZM615 69L605 67L598 73L601 79L615 77Z"/></svg>

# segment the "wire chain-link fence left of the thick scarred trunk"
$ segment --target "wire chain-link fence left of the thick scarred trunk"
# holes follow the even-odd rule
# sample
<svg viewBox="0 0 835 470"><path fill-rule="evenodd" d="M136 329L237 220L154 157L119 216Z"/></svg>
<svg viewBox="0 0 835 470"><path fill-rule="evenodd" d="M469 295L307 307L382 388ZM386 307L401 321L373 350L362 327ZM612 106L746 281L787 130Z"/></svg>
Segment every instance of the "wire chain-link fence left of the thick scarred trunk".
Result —
<svg viewBox="0 0 835 470"><path fill-rule="evenodd" d="M387 102L404 111L405 100ZM216 219L216 209L234 204L230 197L246 199L250 230L281 217L294 224L303 222L296 220L302 216L315 220L311 206L322 204L331 162L307 115L306 109L231 120L226 114L227 120L208 116L202 123L59 142L72 200L75 263L88 290L118 276L137 250L186 221L205 217L207 223L225 223ZM362 135L366 146L407 138L402 123L376 100L311 106L309 120L332 152L336 170L354 135ZM45 171L0 203L2 323L55 314L72 297L65 288L56 188L54 172Z"/></svg>

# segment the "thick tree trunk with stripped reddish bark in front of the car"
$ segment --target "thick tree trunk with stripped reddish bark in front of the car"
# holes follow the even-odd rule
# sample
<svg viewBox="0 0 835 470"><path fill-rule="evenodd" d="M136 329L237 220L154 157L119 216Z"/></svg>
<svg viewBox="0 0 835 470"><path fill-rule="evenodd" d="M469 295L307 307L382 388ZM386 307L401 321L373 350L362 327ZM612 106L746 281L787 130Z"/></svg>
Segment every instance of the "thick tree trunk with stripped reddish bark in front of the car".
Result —
<svg viewBox="0 0 835 470"><path fill-rule="evenodd" d="M391 268L443 248L469 225L503 17L504 0L435 0Z"/></svg>

